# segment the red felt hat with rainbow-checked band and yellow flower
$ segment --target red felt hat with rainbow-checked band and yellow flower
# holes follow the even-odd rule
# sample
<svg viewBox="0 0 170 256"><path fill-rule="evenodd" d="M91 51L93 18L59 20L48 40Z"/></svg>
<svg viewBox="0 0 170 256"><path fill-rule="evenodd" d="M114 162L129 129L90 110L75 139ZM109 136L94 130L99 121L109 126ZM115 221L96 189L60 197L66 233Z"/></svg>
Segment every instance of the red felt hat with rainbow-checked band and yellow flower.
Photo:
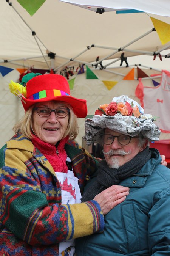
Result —
<svg viewBox="0 0 170 256"><path fill-rule="evenodd" d="M27 79L27 75L22 79L26 86L13 81L9 84L10 91L19 96L25 111L38 102L64 101L71 105L77 117L87 116L86 100L70 96L69 84L65 77L58 74L31 74L34 73L28 74L31 76L30 80Z"/></svg>

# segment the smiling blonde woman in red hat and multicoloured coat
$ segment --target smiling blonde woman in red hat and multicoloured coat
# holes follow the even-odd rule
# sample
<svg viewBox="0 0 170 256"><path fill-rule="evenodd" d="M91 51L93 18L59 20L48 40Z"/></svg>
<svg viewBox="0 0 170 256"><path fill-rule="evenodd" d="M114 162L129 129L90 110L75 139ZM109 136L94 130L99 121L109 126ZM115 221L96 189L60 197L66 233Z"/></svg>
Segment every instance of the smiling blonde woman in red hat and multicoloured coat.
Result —
<svg viewBox="0 0 170 256"><path fill-rule="evenodd" d="M11 82L25 116L0 151L0 255L73 255L74 239L102 232L103 215L129 188L112 186L80 203L98 164L73 141L86 101L70 96L61 75L27 76L26 87Z"/></svg>

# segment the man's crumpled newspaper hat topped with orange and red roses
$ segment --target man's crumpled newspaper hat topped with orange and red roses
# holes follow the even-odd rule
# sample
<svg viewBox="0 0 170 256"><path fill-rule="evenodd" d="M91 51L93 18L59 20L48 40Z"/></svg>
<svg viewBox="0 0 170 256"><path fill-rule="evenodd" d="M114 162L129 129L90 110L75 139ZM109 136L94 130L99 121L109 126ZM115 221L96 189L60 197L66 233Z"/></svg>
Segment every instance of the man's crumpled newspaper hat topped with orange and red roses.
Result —
<svg viewBox="0 0 170 256"><path fill-rule="evenodd" d="M87 144L100 143L100 137L105 128L132 137L140 133L148 141L157 141L160 130L153 121L153 116L144 114L138 102L126 95L114 97L110 104L100 105L92 119L86 119Z"/></svg>

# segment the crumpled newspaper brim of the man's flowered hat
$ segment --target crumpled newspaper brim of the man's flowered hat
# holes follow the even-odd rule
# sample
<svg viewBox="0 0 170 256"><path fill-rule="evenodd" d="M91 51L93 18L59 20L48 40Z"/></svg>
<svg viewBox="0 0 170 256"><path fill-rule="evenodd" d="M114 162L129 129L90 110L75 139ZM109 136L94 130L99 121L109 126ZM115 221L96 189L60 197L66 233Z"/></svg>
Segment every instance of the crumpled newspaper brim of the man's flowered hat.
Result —
<svg viewBox="0 0 170 256"><path fill-rule="evenodd" d="M131 137L141 133L148 141L158 141L160 136L159 127L150 118L142 119L134 116L123 116L119 113L114 116L94 115L92 119L87 118L85 121L87 144L100 143L100 135L105 128Z"/></svg>

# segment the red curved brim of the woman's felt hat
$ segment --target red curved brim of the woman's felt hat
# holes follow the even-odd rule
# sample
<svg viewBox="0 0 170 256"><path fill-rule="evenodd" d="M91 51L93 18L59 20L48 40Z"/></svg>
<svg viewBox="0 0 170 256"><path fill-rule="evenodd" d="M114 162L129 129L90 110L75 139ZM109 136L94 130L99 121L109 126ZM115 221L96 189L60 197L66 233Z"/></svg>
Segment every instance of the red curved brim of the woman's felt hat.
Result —
<svg viewBox="0 0 170 256"><path fill-rule="evenodd" d="M87 105L86 100L84 99L77 99L72 96L55 96L55 97L48 97L42 99L26 99L22 97L22 105L25 111L27 111L32 105L35 105L38 102L45 102L45 101L64 101L69 104L73 108L74 114L79 118L85 118L87 116ZM25 101L25 102L24 102Z"/></svg>

